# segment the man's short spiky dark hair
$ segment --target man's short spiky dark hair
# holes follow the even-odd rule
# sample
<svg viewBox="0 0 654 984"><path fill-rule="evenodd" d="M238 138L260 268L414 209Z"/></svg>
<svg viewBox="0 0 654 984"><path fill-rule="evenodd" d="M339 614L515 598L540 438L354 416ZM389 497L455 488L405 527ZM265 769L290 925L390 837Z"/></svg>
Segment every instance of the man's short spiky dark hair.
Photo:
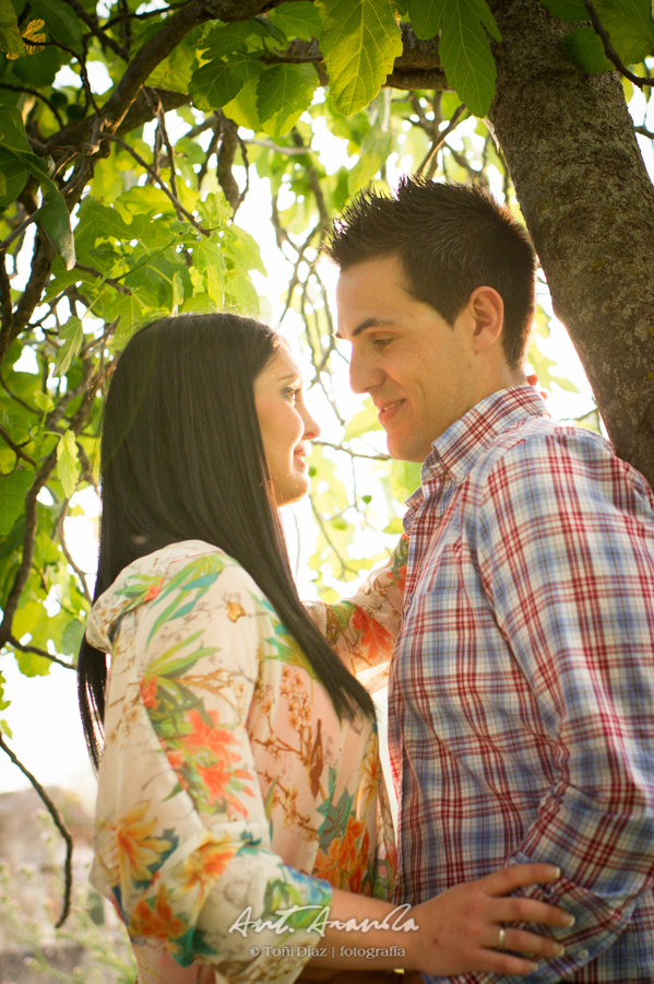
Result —
<svg viewBox="0 0 654 984"><path fill-rule="evenodd" d="M394 197L361 191L334 223L325 253L342 270L396 256L408 292L450 325L478 286L504 302L502 345L519 367L535 303L536 256L524 226L479 185L403 177Z"/></svg>

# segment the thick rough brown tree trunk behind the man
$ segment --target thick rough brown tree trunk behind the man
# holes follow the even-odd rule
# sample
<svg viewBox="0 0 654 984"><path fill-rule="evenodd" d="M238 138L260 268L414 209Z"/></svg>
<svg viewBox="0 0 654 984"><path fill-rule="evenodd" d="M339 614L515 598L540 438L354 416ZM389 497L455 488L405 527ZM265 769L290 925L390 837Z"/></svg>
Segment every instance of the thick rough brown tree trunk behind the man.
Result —
<svg viewBox="0 0 654 984"><path fill-rule="evenodd" d="M537 0L491 0L490 120L609 436L654 485L654 187L617 73L586 75Z"/></svg>

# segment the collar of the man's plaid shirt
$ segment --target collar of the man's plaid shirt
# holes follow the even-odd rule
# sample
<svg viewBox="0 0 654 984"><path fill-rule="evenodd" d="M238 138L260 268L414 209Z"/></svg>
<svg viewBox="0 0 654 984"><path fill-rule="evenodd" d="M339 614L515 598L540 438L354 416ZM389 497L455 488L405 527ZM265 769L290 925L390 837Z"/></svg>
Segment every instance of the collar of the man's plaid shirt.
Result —
<svg viewBox="0 0 654 984"><path fill-rule="evenodd" d="M431 445L423 465L423 483L447 471L462 482L498 434L530 417L548 417L545 401L533 386L500 389L460 417Z"/></svg>

